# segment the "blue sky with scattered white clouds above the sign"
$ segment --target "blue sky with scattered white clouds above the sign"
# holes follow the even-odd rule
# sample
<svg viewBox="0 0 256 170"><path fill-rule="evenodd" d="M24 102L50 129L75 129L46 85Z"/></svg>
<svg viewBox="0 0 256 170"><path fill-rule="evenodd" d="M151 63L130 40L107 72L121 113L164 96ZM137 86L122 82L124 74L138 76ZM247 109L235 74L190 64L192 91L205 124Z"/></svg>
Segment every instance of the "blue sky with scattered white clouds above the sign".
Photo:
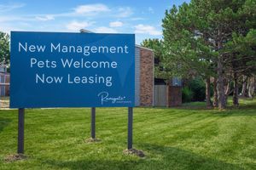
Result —
<svg viewBox="0 0 256 170"><path fill-rule="evenodd" d="M0 31L135 33L162 38L166 9L189 0L0 0Z"/></svg>

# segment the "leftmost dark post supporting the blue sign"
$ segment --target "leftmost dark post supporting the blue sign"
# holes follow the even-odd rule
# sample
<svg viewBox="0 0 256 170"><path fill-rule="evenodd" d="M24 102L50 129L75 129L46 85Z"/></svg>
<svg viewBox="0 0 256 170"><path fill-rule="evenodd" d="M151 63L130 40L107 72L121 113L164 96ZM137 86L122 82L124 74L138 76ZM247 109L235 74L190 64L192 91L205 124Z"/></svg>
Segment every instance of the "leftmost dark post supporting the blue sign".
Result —
<svg viewBox="0 0 256 170"><path fill-rule="evenodd" d="M24 115L25 109L19 109L18 120L18 154L24 154Z"/></svg>

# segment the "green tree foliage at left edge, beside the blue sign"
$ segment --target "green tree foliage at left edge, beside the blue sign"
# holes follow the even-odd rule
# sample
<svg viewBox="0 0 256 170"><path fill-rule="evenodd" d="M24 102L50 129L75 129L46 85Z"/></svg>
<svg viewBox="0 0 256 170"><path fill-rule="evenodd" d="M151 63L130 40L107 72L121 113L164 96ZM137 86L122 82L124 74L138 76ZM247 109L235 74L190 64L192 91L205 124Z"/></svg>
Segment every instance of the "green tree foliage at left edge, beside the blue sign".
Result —
<svg viewBox="0 0 256 170"><path fill-rule="evenodd" d="M9 65L9 35L0 31L0 65Z"/></svg>

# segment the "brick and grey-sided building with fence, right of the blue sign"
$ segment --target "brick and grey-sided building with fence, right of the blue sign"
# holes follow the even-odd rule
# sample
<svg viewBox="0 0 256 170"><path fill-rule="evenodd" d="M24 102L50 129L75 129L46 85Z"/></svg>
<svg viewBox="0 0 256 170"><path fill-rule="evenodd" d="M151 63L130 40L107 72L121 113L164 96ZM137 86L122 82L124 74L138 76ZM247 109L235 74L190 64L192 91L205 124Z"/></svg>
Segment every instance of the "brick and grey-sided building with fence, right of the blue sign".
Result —
<svg viewBox="0 0 256 170"><path fill-rule="evenodd" d="M137 106L178 106L182 104L181 80L173 77L166 85L163 79L154 79L154 52L136 46L135 96Z"/></svg>

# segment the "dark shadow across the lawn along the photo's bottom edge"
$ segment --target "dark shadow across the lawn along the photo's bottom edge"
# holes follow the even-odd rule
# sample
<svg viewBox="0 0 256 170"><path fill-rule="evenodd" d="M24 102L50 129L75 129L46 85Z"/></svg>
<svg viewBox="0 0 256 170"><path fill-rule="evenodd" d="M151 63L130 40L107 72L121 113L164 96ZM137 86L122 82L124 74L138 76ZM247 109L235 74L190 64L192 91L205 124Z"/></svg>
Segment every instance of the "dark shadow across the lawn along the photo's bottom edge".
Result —
<svg viewBox="0 0 256 170"><path fill-rule="evenodd" d="M224 161L196 155L190 151L173 147L154 144L138 144L138 146L146 151L147 156L145 159L131 160L131 156L127 156L121 160L114 160L110 156L104 160L100 158L78 161L46 160L44 163L53 168L67 169L242 169L242 167Z"/></svg>

